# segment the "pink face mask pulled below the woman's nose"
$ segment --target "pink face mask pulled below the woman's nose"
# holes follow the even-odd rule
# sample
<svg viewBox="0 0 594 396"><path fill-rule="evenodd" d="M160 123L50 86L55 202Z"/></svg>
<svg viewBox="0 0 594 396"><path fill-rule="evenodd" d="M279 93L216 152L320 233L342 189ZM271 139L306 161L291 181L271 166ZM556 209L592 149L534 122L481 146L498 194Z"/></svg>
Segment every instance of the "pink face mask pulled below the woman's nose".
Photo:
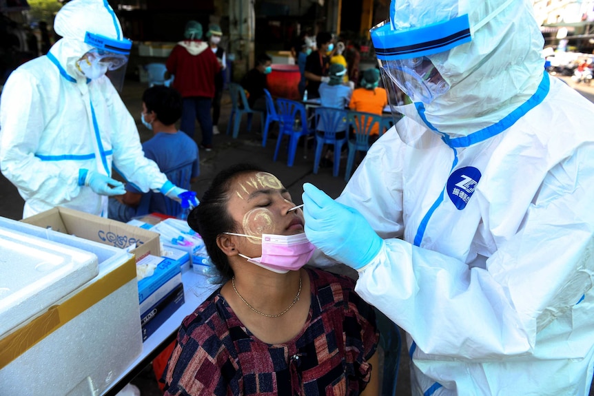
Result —
<svg viewBox="0 0 594 396"><path fill-rule="evenodd" d="M297 271L303 267L311 255L314 254L314 245L307 240L305 233L296 235L274 235L263 233L262 238L249 236L244 233L226 232L229 235L245 236L262 240L262 256L249 258L239 253L248 262L259 265L276 273Z"/></svg>

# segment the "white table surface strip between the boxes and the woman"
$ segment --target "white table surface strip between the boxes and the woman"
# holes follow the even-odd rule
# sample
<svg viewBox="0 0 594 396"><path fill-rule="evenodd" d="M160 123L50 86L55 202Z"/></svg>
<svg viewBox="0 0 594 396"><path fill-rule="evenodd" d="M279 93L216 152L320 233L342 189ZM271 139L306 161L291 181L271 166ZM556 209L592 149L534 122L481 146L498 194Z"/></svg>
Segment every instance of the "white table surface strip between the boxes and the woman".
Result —
<svg viewBox="0 0 594 396"><path fill-rule="evenodd" d="M195 273L192 268L185 264L182 269L181 279L183 283L184 303L177 311L173 313L161 326L156 329L150 337L143 342L143 351L139 357L128 366L126 371L112 382L109 388L102 395L115 395L130 380L134 379L143 368L149 364L158 353L161 353L169 344L165 342L171 337L175 337L183 319L194 312L198 305L202 304L206 298L216 290L218 285L209 284L206 277L201 273ZM147 357L152 355L150 359ZM130 377L130 374L133 374ZM127 378L130 377L130 378ZM125 381L123 381L125 379Z"/></svg>

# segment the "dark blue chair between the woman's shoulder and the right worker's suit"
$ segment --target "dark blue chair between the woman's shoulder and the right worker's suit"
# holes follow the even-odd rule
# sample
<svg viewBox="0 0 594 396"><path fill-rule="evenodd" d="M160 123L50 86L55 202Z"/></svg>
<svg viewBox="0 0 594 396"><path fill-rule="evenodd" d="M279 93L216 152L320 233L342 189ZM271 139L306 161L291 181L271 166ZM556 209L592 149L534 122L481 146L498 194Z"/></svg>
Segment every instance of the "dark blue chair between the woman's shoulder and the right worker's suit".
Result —
<svg viewBox="0 0 594 396"><path fill-rule="evenodd" d="M380 347L384 351L382 371L382 396L396 395L398 384L398 367L400 366L400 350L402 339L400 328L378 309L376 311L376 324L380 331Z"/></svg>

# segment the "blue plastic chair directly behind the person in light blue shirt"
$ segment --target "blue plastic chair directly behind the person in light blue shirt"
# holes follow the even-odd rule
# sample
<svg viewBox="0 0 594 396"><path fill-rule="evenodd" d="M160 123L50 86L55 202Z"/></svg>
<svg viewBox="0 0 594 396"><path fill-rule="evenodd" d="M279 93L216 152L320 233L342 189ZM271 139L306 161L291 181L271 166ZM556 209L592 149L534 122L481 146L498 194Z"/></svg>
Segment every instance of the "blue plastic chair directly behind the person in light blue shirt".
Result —
<svg viewBox="0 0 594 396"><path fill-rule="evenodd" d="M347 110L334 109L333 107L316 107L316 157L314 158L314 174L318 173L322 148L324 145L334 145L334 167L332 176L338 176L340 167L340 153L342 146L347 142L349 124L347 123ZM338 133L345 136L337 138Z"/></svg>

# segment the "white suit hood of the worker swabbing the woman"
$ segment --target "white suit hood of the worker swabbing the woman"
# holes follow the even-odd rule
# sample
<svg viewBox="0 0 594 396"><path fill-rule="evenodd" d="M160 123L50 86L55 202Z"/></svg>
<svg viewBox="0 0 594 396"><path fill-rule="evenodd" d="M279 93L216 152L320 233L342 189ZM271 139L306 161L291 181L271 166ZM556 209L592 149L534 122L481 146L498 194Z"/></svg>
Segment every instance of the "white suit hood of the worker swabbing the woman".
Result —
<svg viewBox="0 0 594 396"><path fill-rule="evenodd" d="M449 90L431 103L399 107L450 137L501 121L536 92L544 72L544 41L528 0L393 0L390 23L409 30L465 14L471 41L427 56Z"/></svg>

